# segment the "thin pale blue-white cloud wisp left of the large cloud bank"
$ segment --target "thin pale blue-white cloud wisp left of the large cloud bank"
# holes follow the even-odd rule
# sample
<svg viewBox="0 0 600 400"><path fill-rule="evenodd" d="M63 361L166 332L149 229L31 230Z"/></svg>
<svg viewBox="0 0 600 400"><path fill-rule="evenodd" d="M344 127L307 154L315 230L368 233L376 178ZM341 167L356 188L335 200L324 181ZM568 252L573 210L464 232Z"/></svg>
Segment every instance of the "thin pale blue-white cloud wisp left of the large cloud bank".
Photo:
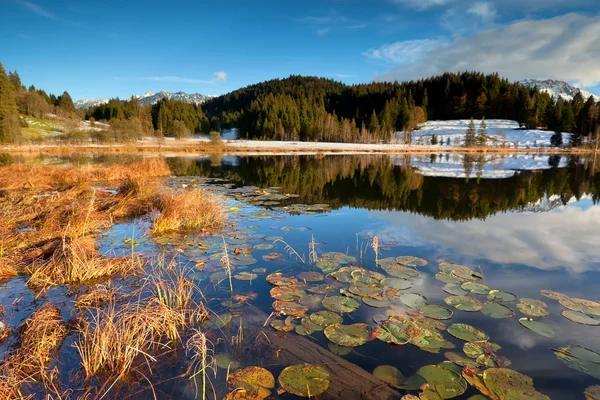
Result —
<svg viewBox="0 0 600 400"><path fill-rule="evenodd" d="M378 49L369 49L363 55L371 60L390 64L407 64L420 61L433 49L444 46L444 42L434 39L405 40L384 44Z"/></svg>

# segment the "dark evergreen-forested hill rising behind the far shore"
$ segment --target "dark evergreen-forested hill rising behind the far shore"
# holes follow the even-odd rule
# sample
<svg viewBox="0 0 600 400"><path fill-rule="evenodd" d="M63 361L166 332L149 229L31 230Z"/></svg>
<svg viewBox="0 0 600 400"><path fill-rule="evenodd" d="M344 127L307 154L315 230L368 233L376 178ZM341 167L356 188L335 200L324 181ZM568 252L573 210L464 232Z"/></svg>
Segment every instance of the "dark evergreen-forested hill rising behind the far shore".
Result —
<svg viewBox="0 0 600 400"><path fill-rule="evenodd" d="M236 126L250 139L389 142L397 131L407 132L409 140L409 132L428 119L503 118L531 128L591 132L592 124L578 125L579 117L587 118L580 115L584 106L596 107L593 100L588 103L581 95L554 101L497 74L465 72L353 86L291 76L217 97L203 110L213 122Z"/></svg>

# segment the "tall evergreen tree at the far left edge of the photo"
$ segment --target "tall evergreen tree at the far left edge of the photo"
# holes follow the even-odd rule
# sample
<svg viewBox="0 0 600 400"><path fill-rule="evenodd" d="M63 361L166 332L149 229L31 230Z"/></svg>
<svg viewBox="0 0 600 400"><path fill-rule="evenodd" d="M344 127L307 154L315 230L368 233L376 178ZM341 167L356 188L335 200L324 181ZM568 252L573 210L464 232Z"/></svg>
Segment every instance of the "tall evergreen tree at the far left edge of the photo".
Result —
<svg viewBox="0 0 600 400"><path fill-rule="evenodd" d="M17 143L21 139L16 90L0 63L0 142Z"/></svg>

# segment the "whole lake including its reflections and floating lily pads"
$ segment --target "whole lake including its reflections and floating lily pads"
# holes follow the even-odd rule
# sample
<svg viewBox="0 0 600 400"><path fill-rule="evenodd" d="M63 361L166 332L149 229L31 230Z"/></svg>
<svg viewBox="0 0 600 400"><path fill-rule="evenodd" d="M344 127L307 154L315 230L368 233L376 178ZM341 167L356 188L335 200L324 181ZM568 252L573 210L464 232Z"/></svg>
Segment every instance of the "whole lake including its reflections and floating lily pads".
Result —
<svg viewBox="0 0 600 400"><path fill-rule="evenodd" d="M580 359L570 352L578 347L568 348L600 351L600 309L577 300L600 300L600 172L594 159L215 155L166 161L173 174L166 186L222 196L230 222L225 234L156 237L148 233L152 217L143 216L103 232L101 250L128 256L134 242L137 254L166 254L202 289L213 315L224 319L200 326L210 331L214 355L225 365L209 374L217 398L227 393L228 365L261 366L276 379L286 367L274 361L273 348L260 344L256 332L263 323L289 343L301 336L369 373L389 365L409 378L421 367L448 360L459 369L508 367L531 377L535 389L552 399L581 399L586 388L599 384L595 356ZM233 266L231 284L223 268L224 243ZM127 280L116 284L127 285ZM71 295L53 288L45 298L69 304ZM7 310L15 298L20 298L19 307L6 318L12 326L36 304L24 277L5 282L0 290ZM366 325L352 332L335 324L323 324L324 329L311 315L326 309L343 319L342 327ZM390 324L399 329L392 331L395 336ZM465 340L473 331L455 324L478 328L481 340ZM65 382L78 371L74 340L68 338L59 352ZM465 354L467 341L481 345L479 353ZM482 344L488 342L499 347ZM354 346L339 345L349 343ZM9 349L6 343L1 346L3 352ZM444 369L455 371L456 364L449 364ZM177 354L156 367L158 398L197 396L187 377L176 378L188 365L185 354ZM404 378L396 382L404 389L394 390L418 394L405 390ZM478 393L469 385L455 398ZM153 398L144 382L120 386L111 395Z"/></svg>

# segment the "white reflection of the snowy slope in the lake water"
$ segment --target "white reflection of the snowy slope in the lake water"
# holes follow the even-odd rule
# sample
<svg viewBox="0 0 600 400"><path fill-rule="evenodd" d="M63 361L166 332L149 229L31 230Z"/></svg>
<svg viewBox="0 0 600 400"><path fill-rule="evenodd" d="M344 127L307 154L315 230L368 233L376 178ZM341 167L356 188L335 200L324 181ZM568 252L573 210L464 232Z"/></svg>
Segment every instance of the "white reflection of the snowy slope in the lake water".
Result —
<svg viewBox="0 0 600 400"><path fill-rule="evenodd" d="M552 168L547 154L513 154L486 156L465 156L463 154L432 154L412 155L410 165L425 176L440 176L446 178L510 178L517 171L540 170ZM560 157L557 167L567 165L567 156ZM398 160L401 164L402 160Z"/></svg>

